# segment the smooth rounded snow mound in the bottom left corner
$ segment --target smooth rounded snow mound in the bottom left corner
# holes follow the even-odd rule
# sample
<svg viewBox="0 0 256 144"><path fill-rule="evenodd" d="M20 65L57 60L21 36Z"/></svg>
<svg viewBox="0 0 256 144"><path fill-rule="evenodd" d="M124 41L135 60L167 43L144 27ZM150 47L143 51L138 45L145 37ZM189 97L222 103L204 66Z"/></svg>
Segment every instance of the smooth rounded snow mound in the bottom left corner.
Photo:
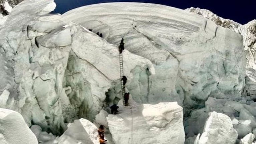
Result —
<svg viewBox="0 0 256 144"><path fill-rule="evenodd" d="M0 108L0 125L0 142L7 142L8 144L38 144L36 136L18 112Z"/></svg>

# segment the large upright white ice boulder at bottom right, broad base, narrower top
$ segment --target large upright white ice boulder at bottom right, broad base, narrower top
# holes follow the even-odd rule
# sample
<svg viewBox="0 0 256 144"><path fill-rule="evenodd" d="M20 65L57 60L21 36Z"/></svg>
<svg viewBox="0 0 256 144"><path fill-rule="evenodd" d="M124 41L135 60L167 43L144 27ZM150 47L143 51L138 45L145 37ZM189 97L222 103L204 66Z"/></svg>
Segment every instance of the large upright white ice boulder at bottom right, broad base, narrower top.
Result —
<svg viewBox="0 0 256 144"><path fill-rule="evenodd" d="M237 136L232 121L227 115L211 112L199 144L235 144Z"/></svg>

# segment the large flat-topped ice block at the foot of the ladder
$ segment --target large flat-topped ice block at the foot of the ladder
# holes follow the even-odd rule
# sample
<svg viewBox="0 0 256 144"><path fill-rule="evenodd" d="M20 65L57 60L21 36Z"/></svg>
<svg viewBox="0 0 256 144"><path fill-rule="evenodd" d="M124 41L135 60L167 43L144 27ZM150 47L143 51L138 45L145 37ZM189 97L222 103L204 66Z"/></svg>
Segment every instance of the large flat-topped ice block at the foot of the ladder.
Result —
<svg viewBox="0 0 256 144"><path fill-rule="evenodd" d="M139 104L129 98L130 106L119 102L117 115L107 122L114 143L184 144L182 107L177 102Z"/></svg>

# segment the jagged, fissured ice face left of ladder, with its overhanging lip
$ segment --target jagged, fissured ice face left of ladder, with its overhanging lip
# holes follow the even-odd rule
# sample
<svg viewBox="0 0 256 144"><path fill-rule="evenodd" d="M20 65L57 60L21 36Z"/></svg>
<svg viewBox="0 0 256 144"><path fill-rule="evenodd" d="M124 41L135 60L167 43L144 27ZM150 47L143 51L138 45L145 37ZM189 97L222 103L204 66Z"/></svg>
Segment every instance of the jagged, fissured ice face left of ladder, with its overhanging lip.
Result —
<svg viewBox="0 0 256 144"><path fill-rule="evenodd" d="M0 92L10 92L1 98L27 125L60 135L65 123L80 117L92 121L102 109L105 92L120 79L119 53L117 45L82 26L46 14L54 7L50 0L24 1L8 15L0 31ZM136 67L155 73L148 59L123 53L128 77Z"/></svg>

